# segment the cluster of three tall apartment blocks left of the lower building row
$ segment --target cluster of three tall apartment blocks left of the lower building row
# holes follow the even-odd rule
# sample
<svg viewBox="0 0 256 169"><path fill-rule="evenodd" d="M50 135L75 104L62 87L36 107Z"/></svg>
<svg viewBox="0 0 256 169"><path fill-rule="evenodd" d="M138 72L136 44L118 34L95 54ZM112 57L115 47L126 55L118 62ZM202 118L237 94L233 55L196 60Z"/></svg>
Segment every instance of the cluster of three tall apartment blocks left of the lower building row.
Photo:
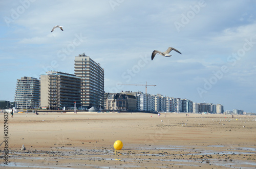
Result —
<svg viewBox="0 0 256 169"><path fill-rule="evenodd" d="M40 79L17 79L16 108L71 109L103 107L104 69L86 54L74 60L74 74L48 71Z"/></svg>

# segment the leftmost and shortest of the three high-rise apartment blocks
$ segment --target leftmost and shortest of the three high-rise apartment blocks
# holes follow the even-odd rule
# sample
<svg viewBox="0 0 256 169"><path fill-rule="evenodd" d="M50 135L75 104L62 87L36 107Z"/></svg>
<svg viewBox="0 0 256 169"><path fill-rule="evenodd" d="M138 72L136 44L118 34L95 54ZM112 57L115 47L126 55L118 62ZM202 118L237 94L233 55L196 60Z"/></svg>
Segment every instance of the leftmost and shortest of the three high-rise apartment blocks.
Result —
<svg viewBox="0 0 256 169"><path fill-rule="evenodd" d="M14 100L17 108L38 108L40 81L33 77L17 79Z"/></svg>

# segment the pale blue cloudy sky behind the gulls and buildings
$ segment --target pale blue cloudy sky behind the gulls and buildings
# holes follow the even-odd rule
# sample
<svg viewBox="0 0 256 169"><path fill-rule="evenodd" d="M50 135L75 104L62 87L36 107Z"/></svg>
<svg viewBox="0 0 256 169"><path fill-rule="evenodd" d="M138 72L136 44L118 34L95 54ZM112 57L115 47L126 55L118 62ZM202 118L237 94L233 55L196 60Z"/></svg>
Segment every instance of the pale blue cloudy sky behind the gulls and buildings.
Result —
<svg viewBox="0 0 256 169"><path fill-rule="evenodd" d="M74 74L85 53L105 92L142 91L256 112L256 1L0 1L0 100L17 79ZM63 26L63 32L55 25ZM156 55L169 46L182 54Z"/></svg>

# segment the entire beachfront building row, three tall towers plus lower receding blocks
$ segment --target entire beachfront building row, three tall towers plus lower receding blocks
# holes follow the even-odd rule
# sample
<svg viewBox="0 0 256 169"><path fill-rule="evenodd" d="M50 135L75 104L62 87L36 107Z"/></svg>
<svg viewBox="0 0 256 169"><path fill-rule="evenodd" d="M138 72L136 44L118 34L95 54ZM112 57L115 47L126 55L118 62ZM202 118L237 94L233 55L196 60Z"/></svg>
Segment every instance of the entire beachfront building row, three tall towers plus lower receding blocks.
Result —
<svg viewBox="0 0 256 169"><path fill-rule="evenodd" d="M48 71L40 79L17 79L17 109L89 109L119 111L166 111L223 113L223 105L193 103L188 99L144 94L142 92L104 92L104 69L87 55L74 60L74 74Z"/></svg>

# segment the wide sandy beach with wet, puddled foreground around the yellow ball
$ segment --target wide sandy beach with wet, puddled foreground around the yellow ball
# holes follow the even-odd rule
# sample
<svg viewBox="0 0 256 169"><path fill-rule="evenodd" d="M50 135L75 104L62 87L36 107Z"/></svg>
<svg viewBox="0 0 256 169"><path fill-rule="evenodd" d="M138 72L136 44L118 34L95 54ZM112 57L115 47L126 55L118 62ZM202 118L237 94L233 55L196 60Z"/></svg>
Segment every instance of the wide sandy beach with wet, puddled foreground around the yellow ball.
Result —
<svg viewBox="0 0 256 169"><path fill-rule="evenodd" d="M2 143L4 114L0 117ZM231 117L117 112L9 115L8 165L3 144L0 168L256 168L256 117ZM122 150L113 148L116 140L123 142ZM26 150L20 150L22 145Z"/></svg>

